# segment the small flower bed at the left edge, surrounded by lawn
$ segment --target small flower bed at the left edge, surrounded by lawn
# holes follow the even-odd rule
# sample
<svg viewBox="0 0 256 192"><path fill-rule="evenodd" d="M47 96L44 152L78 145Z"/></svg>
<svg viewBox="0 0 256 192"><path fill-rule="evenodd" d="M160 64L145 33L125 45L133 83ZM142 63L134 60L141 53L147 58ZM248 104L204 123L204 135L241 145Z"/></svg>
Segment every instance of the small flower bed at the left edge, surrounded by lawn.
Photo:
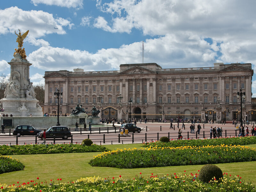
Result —
<svg viewBox="0 0 256 192"><path fill-rule="evenodd" d="M18 159L9 156L0 156L0 174L23 170L24 165Z"/></svg>

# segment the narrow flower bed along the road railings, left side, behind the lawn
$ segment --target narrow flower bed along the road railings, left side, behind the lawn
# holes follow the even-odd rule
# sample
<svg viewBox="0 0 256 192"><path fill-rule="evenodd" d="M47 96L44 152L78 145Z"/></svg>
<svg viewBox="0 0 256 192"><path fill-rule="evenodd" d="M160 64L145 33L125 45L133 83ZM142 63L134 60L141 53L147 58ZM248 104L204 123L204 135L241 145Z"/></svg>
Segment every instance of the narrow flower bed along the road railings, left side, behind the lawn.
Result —
<svg viewBox="0 0 256 192"><path fill-rule="evenodd" d="M50 145L2 145L1 155L53 154L53 153L85 153L108 151L102 145L50 144Z"/></svg>

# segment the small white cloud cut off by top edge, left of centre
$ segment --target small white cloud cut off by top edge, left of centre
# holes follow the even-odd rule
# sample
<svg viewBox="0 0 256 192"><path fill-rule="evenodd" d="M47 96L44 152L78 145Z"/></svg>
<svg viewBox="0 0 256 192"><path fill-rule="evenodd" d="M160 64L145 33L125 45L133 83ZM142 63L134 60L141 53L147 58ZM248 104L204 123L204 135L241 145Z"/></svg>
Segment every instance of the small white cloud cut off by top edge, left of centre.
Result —
<svg viewBox="0 0 256 192"><path fill-rule="evenodd" d="M77 9L83 8L83 0L31 0L31 3L35 6L37 4L46 4Z"/></svg>

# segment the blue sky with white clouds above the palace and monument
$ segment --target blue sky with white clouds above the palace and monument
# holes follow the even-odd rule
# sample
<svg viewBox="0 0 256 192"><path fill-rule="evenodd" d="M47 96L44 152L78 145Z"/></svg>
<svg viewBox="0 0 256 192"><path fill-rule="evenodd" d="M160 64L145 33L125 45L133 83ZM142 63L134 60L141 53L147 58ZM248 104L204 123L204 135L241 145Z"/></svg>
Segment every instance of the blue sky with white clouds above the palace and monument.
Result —
<svg viewBox="0 0 256 192"><path fill-rule="evenodd" d="M238 62L255 69L255 7L254 0L1 1L0 74L10 73L18 29L29 29L23 47L34 84L44 83L44 71L141 63L142 41L144 63L162 68Z"/></svg>

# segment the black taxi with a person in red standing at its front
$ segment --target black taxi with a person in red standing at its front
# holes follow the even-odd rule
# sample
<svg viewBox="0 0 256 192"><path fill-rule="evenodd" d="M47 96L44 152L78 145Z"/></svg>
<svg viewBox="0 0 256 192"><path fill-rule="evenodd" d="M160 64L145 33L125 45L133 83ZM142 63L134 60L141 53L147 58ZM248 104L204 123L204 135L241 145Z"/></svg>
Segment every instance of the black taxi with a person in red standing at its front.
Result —
<svg viewBox="0 0 256 192"><path fill-rule="evenodd" d="M68 130L68 127L65 127L65 126L50 127L45 133L46 133L46 139L53 138L54 135L55 135L55 138L62 138L62 139L68 139L68 137L71 137L71 132ZM43 131L38 134L38 137L42 139Z"/></svg>

